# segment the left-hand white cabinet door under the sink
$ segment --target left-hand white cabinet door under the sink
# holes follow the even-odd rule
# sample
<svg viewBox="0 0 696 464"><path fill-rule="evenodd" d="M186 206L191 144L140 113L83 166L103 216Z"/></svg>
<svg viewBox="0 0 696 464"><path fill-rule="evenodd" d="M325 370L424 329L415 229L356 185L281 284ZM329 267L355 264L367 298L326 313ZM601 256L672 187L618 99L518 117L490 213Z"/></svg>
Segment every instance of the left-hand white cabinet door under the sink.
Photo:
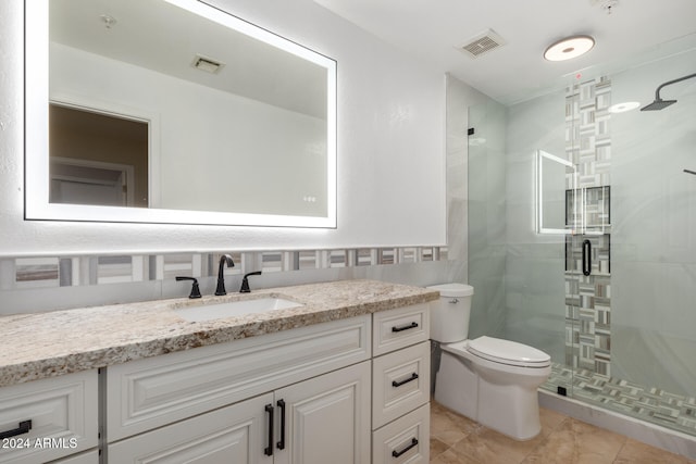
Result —
<svg viewBox="0 0 696 464"><path fill-rule="evenodd" d="M272 464L266 393L109 444L110 464Z"/></svg>

